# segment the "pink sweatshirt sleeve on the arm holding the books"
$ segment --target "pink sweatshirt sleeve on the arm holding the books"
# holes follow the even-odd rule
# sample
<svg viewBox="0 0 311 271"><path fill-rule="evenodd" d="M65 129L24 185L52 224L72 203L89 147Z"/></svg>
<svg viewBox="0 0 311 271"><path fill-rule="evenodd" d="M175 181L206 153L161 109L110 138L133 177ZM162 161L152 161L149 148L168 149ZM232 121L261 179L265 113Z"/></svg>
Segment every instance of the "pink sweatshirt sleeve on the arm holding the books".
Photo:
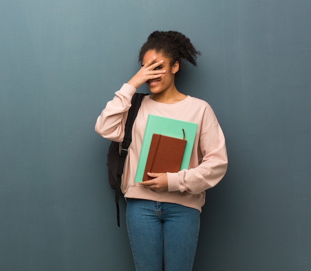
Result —
<svg viewBox="0 0 311 271"><path fill-rule="evenodd" d="M198 156L202 154L202 161L188 170L167 173L168 191L199 194L217 185L225 176L228 165L225 137L215 115L213 117L213 126L200 134Z"/></svg>

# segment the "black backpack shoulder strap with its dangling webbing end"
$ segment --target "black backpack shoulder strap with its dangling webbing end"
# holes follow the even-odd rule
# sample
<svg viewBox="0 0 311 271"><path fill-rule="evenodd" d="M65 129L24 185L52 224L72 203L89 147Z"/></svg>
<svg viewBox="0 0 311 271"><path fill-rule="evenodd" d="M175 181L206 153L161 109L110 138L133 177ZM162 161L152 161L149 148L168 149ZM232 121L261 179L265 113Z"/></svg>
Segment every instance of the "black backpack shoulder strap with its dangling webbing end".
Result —
<svg viewBox="0 0 311 271"><path fill-rule="evenodd" d="M117 173L117 186L116 186L116 196L115 201L117 205L117 221L120 227L120 209L119 209L119 198L121 194L121 176L123 173L125 158L128 154L128 148L132 142L132 128L134 121L136 119L139 108L141 107L142 100L147 94L135 93L132 97L132 106L129 109L128 117L125 123L125 134L122 142L122 148L119 159L118 173Z"/></svg>

